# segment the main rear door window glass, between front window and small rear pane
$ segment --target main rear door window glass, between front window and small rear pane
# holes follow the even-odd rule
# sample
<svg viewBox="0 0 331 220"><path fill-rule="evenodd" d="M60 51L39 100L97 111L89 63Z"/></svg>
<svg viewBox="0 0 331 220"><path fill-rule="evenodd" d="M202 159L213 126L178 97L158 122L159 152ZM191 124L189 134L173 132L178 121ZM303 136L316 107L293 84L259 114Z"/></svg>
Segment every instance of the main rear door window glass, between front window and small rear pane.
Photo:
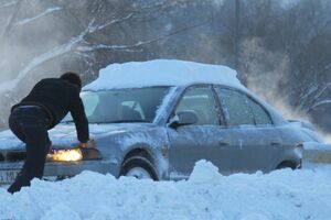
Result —
<svg viewBox="0 0 331 220"><path fill-rule="evenodd" d="M249 109L247 97L231 89L218 89L221 106L227 125L254 125L254 116Z"/></svg>

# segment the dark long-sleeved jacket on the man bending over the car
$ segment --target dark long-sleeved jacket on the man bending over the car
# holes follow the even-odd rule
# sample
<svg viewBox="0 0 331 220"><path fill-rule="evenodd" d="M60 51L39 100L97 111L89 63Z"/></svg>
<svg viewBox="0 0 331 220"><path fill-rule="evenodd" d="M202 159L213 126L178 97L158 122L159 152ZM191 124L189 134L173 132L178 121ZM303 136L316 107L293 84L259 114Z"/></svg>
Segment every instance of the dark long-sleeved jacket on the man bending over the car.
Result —
<svg viewBox="0 0 331 220"><path fill-rule="evenodd" d="M50 119L49 129L54 128L71 112L77 138L82 143L88 141L88 121L84 111L79 89L61 78L46 78L40 80L31 92L21 102L12 107L35 105L42 107Z"/></svg>

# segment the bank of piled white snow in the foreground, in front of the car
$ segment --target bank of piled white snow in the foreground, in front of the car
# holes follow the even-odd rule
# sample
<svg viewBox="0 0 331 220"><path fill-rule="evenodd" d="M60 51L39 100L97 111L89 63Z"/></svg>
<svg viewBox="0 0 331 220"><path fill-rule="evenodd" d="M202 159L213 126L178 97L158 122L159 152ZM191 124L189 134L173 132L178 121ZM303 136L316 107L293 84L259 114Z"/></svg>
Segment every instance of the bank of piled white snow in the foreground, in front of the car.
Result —
<svg viewBox="0 0 331 220"><path fill-rule="evenodd" d="M150 182L85 172L34 180L15 195L0 188L0 220L331 219L331 165L222 176L199 162L189 180Z"/></svg>

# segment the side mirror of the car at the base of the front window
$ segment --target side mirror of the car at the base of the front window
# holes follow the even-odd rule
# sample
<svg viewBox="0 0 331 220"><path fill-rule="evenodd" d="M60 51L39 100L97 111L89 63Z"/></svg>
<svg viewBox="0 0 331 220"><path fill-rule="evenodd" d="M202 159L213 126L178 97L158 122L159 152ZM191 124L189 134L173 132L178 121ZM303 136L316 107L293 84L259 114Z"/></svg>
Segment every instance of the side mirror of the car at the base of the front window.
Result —
<svg viewBox="0 0 331 220"><path fill-rule="evenodd" d="M190 125L195 123L197 123L195 111L185 110L177 112L177 114L171 119L169 127L172 129L177 129L182 125Z"/></svg>

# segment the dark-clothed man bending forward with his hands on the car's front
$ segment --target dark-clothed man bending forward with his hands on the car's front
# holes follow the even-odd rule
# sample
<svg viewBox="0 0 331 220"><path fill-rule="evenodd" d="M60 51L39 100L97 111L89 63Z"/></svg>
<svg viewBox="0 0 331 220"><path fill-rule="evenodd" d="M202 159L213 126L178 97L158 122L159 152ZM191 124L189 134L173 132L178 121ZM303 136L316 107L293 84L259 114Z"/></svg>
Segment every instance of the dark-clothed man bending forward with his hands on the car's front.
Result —
<svg viewBox="0 0 331 220"><path fill-rule="evenodd" d="M45 158L51 147L47 130L71 112L81 147L87 147L88 121L79 97L82 80L68 72L60 78L40 80L30 94L11 109L9 127L25 143L26 158L14 183L8 188L13 194L30 186L33 178L42 178Z"/></svg>

